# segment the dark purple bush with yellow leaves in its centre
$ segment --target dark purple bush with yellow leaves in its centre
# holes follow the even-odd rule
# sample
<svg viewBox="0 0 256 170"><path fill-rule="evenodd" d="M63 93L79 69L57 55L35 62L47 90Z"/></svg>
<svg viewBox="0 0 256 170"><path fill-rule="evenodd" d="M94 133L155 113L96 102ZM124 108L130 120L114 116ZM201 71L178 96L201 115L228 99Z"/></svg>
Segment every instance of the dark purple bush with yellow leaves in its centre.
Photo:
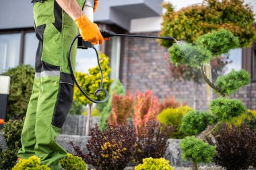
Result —
<svg viewBox="0 0 256 170"><path fill-rule="evenodd" d="M86 144L88 153L82 155L77 146L73 146L77 156L96 167L96 169L124 169L133 157L135 132L131 126L113 126L101 132L98 125L91 130L91 138Z"/></svg>

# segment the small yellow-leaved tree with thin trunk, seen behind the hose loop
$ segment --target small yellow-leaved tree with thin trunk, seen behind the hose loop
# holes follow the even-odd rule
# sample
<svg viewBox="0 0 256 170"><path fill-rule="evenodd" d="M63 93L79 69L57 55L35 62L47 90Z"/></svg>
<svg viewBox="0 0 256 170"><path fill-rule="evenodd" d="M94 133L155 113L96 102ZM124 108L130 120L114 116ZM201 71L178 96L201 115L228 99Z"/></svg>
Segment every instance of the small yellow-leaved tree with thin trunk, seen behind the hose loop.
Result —
<svg viewBox="0 0 256 170"><path fill-rule="evenodd" d="M112 79L109 79L108 75L110 74L110 67L108 67L108 57L105 54L100 53L100 65L103 71L103 89L109 90L110 85L113 83ZM89 73L75 73L75 77L79 85L88 93L88 95L94 100L104 99L104 93L99 93L99 95L94 95L94 92L98 87L100 87L100 69L99 67L93 67L89 69ZM88 119L86 122L86 135L89 135L90 132L90 122L92 117L92 101L86 98L79 89L75 86L74 96L75 101L80 103L88 104Z"/></svg>

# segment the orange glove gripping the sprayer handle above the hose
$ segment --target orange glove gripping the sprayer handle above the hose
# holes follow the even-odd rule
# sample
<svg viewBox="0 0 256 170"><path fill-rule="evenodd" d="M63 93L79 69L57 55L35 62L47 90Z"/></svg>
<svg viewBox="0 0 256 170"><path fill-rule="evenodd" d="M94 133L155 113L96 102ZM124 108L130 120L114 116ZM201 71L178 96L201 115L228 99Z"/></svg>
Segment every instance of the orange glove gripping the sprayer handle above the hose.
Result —
<svg viewBox="0 0 256 170"><path fill-rule="evenodd" d="M102 44L104 38L100 34L97 24L90 22L86 15L82 15L76 19L75 24L79 28L80 34L85 41L91 42L92 44Z"/></svg>

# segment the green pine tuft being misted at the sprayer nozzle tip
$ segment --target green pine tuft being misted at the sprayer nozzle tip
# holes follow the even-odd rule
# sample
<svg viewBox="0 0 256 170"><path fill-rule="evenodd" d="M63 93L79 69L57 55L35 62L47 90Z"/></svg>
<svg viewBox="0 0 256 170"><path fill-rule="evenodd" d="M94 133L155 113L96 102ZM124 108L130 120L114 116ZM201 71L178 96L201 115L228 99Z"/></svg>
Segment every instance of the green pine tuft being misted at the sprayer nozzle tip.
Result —
<svg viewBox="0 0 256 170"><path fill-rule="evenodd" d="M188 43L173 44L168 48L170 60L177 65L189 65L191 67L200 68L201 65L209 62L212 54L206 48L201 46L193 46Z"/></svg>

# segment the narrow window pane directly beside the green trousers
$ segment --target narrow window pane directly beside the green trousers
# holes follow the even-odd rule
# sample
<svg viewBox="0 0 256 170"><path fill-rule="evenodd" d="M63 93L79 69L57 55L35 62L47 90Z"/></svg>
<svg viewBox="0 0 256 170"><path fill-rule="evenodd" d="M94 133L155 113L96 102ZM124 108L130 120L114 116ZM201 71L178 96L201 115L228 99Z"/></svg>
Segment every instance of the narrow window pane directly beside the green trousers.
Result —
<svg viewBox="0 0 256 170"><path fill-rule="evenodd" d="M24 36L24 59L23 64L34 67L36 63L36 50L38 39L34 32L27 32Z"/></svg>

